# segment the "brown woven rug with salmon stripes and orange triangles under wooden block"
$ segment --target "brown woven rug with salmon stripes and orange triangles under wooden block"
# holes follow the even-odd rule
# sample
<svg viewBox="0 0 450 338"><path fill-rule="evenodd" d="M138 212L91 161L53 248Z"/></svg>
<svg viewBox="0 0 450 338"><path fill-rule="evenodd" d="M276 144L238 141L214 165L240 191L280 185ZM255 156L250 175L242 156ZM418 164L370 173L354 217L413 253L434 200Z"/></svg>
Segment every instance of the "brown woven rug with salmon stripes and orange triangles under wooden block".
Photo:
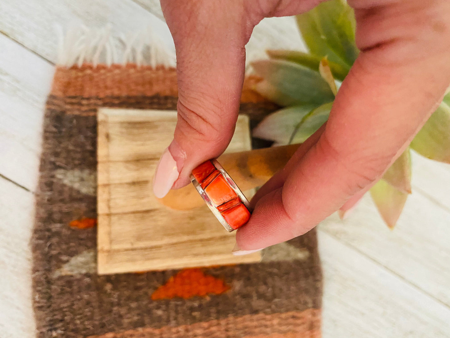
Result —
<svg viewBox="0 0 450 338"><path fill-rule="evenodd" d="M254 81L246 78L241 104L253 125L276 109ZM38 337L320 337L314 230L282 244L293 254L258 264L96 274L97 108L174 110L176 101L175 69L56 69L31 241Z"/></svg>

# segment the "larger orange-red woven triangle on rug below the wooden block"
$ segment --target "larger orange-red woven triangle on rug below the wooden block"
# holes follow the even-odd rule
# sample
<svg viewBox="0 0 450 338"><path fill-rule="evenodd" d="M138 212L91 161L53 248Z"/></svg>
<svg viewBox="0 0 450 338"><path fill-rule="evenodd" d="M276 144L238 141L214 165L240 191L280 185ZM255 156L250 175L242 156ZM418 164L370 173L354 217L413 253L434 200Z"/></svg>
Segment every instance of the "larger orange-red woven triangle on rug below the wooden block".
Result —
<svg viewBox="0 0 450 338"><path fill-rule="evenodd" d="M205 297L208 294L220 295L228 291L229 286L222 279L206 275L201 269L184 269L157 288L152 299Z"/></svg>

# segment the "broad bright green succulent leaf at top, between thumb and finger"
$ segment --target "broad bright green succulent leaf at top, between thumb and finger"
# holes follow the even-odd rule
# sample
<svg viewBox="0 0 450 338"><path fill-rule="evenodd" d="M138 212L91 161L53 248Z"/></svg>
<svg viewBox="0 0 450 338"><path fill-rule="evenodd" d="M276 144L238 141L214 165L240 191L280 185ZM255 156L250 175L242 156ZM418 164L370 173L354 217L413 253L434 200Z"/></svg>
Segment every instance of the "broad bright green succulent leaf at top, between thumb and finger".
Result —
<svg viewBox="0 0 450 338"><path fill-rule="evenodd" d="M326 1L297 15L297 25L312 54L349 66L355 62L355 15L344 0Z"/></svg>

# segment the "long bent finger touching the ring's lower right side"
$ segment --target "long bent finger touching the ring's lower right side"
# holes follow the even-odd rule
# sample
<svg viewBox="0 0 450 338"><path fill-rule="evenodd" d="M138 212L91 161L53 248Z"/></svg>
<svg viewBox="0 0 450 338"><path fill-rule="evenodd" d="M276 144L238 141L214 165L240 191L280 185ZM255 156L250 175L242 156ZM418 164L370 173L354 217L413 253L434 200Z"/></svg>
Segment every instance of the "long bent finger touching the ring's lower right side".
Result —
<svg viewBox="0 0 450 338"><path fill-rule="evenodd" d="M297 159L282 187L257 202L248 224L238 230L241 250L309 231L380 178L436 109L450 79L450 32L448 25L432 34L422 31L448 22L450 8L440 2L405 12L416 25L403 27L406 19L398 20L398 11L409 10L410 4L356 9L361 53L342 83L325 130ZM428 21L430 12L437 22Z"/></svg>

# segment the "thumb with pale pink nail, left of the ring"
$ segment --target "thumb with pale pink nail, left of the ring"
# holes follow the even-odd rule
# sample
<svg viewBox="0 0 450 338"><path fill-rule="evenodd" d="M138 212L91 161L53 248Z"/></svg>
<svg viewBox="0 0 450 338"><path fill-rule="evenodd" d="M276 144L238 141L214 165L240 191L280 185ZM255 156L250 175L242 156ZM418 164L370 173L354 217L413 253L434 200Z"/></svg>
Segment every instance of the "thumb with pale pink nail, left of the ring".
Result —
<svg viewBox="0 0 450 338"><path fill-rule="evenodd" d="M233 136L252 30L237 2L161 1L177 56L178 122L153 181L158 198L189 183Z"/></svg>

